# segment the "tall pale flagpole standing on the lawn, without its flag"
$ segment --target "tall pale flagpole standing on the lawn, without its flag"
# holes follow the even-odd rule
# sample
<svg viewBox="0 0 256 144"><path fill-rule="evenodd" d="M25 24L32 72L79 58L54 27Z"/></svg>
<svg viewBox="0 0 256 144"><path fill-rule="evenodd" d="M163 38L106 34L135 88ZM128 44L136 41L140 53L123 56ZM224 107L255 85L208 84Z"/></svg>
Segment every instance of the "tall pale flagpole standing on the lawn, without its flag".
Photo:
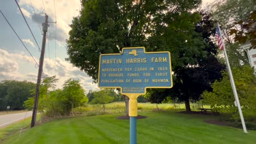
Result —
<svg viewBox="0 0 256 144"><path fill-rule="evenodd" d="M218 24L218 28L219 28L219 22L217 22L217 24ZM219 28L219 33L220 33L220 37L222 38L222 31L220 31L220 28ZM228 58L228 55L226 55L226 49L225 49L224 41L223 41L223 48L224 48L224 55L225 55L225 59L226 59L226 66L228 67L229 77L230 77L230 81L231 81L231 86L232 86L232 89L233 89L233 93L235 95L237 108L238 108L239 115L240 115L241 122L242 122L242 126L243 126L243 132L248 133L247 129L246 129L245 119L243 119L243 113L242 113L242 109L241 109L240 102L239 102L239 99L238 99L238 95L237 95L237 92L236 92L236 85L235 85L235 81L234 81L232 71L231 71L231 68L230 68L229 58Z"/></svg>

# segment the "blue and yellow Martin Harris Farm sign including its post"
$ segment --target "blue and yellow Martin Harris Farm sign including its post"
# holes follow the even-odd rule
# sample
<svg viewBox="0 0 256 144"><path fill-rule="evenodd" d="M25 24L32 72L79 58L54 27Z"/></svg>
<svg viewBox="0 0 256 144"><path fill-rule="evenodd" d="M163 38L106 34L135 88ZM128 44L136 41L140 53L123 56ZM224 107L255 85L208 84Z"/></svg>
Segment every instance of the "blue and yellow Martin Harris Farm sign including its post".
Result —
<svg viewBox="0 0 256 144"><path fill-rule="evenodd" d="M98 87L120 88L129 97L130 143L137 143L137 98L147 88L171 88L171 54L146 52L145 47L125 47L122 53L102 54Z"/></svg>

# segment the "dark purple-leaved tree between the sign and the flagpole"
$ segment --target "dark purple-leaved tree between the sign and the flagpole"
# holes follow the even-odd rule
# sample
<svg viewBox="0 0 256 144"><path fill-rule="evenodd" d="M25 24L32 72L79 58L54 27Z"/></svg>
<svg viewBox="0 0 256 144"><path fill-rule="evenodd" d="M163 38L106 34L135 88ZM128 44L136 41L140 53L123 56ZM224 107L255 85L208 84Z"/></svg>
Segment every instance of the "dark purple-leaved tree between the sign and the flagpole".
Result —
<svg viewBox="0 0 256 144"><path fill-rule="evenodd" d="M225 67L217 58L217 47L211 40L211 35L215 33L215 22L211 20L211 14L200 11L201 21L197 23L194 31L195 35L200 34L199 41L203 41L202 53L205 55L194 55L196 62L188 64L187 67L179 67L174 73L174 86L169 89L172 97L184 100L186 111L190 110L189 100L199 100L200 95L206 89L211 91L211 83L222 77L220 71ZM197 43L200 43L197 41Z"/></svg>

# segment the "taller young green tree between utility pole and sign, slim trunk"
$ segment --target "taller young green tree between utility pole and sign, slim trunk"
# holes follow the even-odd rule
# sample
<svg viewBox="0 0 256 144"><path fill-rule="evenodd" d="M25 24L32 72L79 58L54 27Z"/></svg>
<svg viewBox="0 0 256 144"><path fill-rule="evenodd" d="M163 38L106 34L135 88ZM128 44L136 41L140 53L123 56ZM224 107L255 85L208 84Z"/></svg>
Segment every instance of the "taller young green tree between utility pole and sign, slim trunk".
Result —
<svg viewBox="0 0 256 144"><path fill-rule="evenodd" d="M85 104L88 98L85 95L85 91L79 83L79 80L68 79L63 84L63 94L66 101L71 105L71 113L74 116L74 107Z"/></svg>

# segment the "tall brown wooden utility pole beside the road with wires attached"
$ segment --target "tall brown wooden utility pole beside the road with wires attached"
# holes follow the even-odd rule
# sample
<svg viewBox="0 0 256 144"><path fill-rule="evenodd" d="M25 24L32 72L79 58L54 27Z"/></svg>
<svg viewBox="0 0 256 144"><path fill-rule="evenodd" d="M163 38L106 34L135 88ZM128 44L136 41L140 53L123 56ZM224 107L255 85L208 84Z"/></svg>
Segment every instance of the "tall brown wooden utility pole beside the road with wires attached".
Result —
<svg viewBox="0 0 256 144"><path fill-rule="evenodd" d="M38 96L39 96L39 90L40 90L40 82L42 78L42 72L43 72L43 65L44 65L44 51L45 51L45 41L46 41L46 32L48 30L48 15L45 14L45 22L42 24L43 26L43 42L42 42L42 49L41 49L41 55L40 55L40 62L39 62L39 69L38 69L38 75L37 75L37 88L36 88L36 95L34 97L34 107L33 107L33 114L32 114L32 120L31 120L31 128L34 127L36 123L37 118L37 105L38 105Z"/></svg>

